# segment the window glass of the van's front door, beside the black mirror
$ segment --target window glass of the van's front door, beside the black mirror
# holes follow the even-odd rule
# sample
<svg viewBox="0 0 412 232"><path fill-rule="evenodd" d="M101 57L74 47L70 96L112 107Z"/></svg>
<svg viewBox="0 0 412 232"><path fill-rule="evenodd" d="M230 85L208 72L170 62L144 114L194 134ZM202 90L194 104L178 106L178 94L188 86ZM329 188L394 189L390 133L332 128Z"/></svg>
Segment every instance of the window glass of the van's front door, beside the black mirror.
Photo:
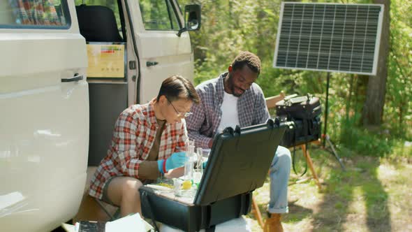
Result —
<svg viewBox="0 0 412 232"><path fill-rule="evenodd" d="M139 5L145 29L161 31L180 29L170 0L140 0Z"/></svg>

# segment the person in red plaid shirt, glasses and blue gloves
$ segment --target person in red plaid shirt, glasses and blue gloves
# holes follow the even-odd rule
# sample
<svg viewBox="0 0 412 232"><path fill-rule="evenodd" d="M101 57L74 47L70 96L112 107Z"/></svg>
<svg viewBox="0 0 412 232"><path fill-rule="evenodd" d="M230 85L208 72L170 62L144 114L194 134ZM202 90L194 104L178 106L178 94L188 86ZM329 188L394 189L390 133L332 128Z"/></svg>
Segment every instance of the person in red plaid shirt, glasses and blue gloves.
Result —
<svg viewBox="0 0 412 232"><path fill-rule="evenodd" d="M139 212L138 189L157 177L184 173L184 117L199 96L179 75L163 81L159 95L124 110L117 119L107 156L91 178L89 195L120 207L122 217Z"/></svg>

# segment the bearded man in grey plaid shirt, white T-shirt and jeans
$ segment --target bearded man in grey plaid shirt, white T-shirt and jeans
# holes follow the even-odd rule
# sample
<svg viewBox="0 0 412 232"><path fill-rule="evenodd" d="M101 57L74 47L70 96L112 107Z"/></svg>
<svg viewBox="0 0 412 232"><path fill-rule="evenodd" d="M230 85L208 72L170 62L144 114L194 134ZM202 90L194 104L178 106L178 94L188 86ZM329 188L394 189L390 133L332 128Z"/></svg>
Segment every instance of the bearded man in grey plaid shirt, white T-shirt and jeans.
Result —
<svg viewBox="0 0 412 232"><path fill-rule="evenodd" d="M262 89L254 83L260 73L260 59L251 52L240 52L228 72L196 87L200 104L193 105L193 115L186 119L189 138L196 147L212 147L216 133L227 126L251 126L270 118ZM283 231L281 214L288 212L290 152L279 146L270 166L270 218L265 231Z"/></svg>

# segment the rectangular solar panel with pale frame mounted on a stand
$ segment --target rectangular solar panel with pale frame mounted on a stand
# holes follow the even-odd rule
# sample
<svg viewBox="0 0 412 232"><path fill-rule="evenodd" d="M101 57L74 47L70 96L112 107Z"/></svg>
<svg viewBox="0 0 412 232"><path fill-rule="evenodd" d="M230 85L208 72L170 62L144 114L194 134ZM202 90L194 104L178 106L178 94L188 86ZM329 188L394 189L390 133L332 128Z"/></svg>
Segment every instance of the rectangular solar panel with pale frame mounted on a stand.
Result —
<svg viewBox="0 0 412 232"><path fill-rule="evenodd" d="M376 75L383 5L282 2L276 68Z"/></svg>

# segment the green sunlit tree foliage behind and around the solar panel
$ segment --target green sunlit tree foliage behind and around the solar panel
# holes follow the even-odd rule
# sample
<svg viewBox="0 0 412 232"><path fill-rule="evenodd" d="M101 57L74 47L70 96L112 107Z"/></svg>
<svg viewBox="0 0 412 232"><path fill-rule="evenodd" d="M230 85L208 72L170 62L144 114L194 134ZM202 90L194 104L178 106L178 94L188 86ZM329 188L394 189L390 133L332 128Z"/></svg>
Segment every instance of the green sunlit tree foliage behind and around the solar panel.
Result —
<svg viewBox="0 0 412 232"><path fill-rule="evenodd" d="M280 0L179 1L202 5L202 28L191 32L198 84L226 71L240 50L255 52L263 63L258 84L265 96L311 93L325 101L326 73L273 68ZM311 1L372 3L372 1ZM392 0L390 55L383 125L371 133L362 128L368 77L332 73L328 133L338 144L376 147L386 140L412 140L412 0ZM386 144L388 145L388 144ZM362 148L362 149L363 149ZM361 150L361 149L360 149ZM369 150L369 148L365 149ZM380 151L385 153L385 150Z"/></svg>

